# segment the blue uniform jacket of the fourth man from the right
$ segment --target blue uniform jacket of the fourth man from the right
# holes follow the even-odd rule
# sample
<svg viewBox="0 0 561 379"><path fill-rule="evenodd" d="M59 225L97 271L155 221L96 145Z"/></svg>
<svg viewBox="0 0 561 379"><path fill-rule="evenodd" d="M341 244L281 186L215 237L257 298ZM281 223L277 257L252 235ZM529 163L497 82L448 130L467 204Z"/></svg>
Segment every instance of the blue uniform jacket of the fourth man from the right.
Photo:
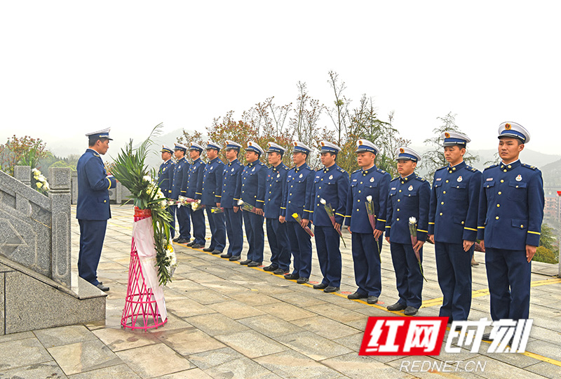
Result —
<svg viewBox="0 0 561 379"><path fill-rule="evenodd" d="M351 175L351 187L346 201L345 225L351 227L353 233L372 233L370 220L366 211L366 197L372 196L376 229L382 232L386 226L386 201L391 175L377 168L376 165L367 170L358 169Z"/></svg>

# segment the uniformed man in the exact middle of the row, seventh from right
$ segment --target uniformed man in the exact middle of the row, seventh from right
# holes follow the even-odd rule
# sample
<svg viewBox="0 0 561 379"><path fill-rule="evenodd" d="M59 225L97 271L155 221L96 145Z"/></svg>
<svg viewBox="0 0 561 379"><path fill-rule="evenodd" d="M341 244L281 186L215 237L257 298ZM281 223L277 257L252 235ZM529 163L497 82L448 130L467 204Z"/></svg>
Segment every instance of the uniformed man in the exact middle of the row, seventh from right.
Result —
<svg viewBox="0 0 561 379"><path fill-rule="evenodd" d="M286 189L288 167L283 164L284 147L269 142L269 149L266 153L271 167L267 170L266 175L263 212L267 240L269 241L269 248L271 248L271 265L263 267L263 270L283 275L288 274L290 268L290 246L288 245L286 224L281 223L278 216L280 215L280 202L283 201L283 193Z"/></svg>

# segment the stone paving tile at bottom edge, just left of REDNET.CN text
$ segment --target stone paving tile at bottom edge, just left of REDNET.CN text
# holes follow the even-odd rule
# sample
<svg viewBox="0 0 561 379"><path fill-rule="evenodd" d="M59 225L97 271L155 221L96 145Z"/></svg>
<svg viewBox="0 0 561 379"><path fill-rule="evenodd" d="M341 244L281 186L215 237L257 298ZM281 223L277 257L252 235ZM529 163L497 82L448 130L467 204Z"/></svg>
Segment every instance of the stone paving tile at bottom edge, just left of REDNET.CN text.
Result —
<svg viewBox="0 0 561 379"><path fill-rule="evenodd" d="M333 370L339 371L339 373L344 373L349 376L349 378L370 379L374 375L376 378L381 379L414 378L413 375L399 371L397 368L387 366L386 364L372 359L372 357L359 356L356 352L325 359L321 361L321 363Z"/></svg>

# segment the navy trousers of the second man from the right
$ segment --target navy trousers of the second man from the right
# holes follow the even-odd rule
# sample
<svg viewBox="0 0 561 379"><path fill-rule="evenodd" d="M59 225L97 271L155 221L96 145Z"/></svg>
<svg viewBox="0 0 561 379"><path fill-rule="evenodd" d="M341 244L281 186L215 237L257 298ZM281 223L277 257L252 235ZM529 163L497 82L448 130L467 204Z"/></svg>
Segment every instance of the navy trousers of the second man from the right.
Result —
<svg viewBox="0 0 561 379"><path fill-rule="evenodd" d="M451 321L468 319L471 307L471 255L473 246L464 251L464 244L435 241L436 272L442 291L440 317Z"/></svg>

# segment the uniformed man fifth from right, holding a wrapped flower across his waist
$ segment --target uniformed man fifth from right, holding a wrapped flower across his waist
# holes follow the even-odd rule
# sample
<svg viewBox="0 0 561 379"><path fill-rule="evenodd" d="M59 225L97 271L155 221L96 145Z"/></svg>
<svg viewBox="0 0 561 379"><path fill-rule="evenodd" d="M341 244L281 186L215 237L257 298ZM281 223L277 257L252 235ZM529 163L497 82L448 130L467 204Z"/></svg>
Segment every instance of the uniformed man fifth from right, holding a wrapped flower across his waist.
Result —
<svg viewBox="0 0 561 379"><path fill-rule="evenodd" d="M341 286L341 251L339 251L339 231L345 220L346 198L349 192L349 174L337 166L335 160L341 148L331 142L321 141L321 163L323 168L316 171L311 191L312 222L316 251L323 279L313 288L323 292L339 291ZM325 202L325 204L323 204ZM331 222L324 205L331 205L335 225Z"/></svg>

